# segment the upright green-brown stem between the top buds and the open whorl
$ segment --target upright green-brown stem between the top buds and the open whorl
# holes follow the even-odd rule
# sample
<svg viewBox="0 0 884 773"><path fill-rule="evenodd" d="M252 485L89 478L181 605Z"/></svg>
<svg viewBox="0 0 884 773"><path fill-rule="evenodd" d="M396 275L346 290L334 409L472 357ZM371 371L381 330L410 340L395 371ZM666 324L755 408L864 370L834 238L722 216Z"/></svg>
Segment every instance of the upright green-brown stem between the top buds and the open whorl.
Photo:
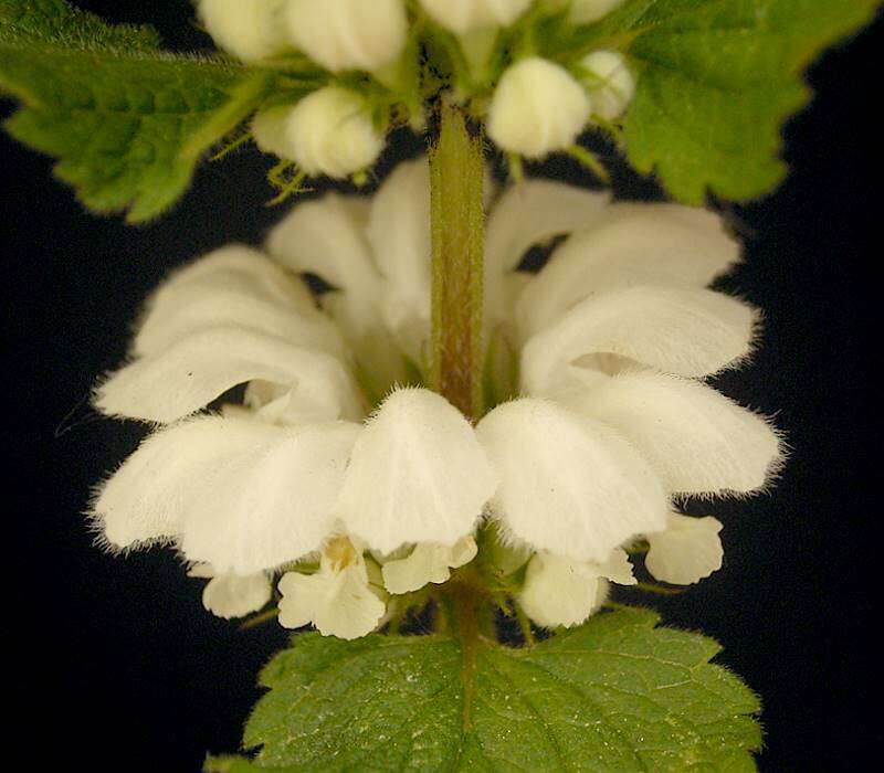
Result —
<svg viewBox="0 0 884 773"><path fill-rule="evenodd" d="M439 139L430 149L433 255L430 383L472 420L482 415L484 173L482 137L463 110L439 109Z"/></svg>

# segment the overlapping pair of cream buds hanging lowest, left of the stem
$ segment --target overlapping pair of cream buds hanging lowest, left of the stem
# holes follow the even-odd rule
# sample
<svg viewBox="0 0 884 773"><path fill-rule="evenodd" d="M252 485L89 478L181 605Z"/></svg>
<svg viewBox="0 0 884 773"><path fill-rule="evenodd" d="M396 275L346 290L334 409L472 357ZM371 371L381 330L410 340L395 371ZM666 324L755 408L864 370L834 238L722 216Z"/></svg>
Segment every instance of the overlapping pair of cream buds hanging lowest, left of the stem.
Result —
<svg viewBox="0 0 884 773"><path fill-rule="evenodd" d="M295 161L307 174L343 178L375 162L383 137L366 100L355 92L326 86L294 107L274 107L252 124L262 150Z"/></svg>

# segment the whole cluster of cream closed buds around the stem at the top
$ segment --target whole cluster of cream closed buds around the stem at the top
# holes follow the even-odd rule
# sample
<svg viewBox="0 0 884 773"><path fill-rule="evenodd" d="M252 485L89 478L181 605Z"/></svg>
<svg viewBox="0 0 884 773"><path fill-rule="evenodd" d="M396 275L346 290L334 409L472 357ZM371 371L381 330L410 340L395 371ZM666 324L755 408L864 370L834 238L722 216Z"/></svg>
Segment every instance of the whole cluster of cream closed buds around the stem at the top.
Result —
<svg viewBox="0 0 884 773"><path fill-rule="evenodd" d="M446 92L513 158L576 152L589 126L617 138L635 81L615 51L570 51L559 32L597 22L619 0L200 0L215 43L291 71L252 135L301 174L361 176L387 131L421 127ZM537 34L543 30L543 34ZM423 52L431 41L432 66Z"/></svg>

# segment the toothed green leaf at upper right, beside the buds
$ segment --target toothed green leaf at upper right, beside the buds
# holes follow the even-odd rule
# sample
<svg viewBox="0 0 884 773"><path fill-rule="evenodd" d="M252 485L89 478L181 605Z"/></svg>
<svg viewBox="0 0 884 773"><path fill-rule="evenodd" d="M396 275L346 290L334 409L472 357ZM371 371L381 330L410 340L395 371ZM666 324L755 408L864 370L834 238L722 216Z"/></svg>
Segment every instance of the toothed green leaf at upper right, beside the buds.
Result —
<svg viewBox="0 0 884 773"><path fill-rule="evenodd" d="M639 88L625 120L631 163L681 201L745 201L774 189L785 120L810 92L803 70L867 23L880 0L630 0L581 30L571 54L620 47Z"/></svg>

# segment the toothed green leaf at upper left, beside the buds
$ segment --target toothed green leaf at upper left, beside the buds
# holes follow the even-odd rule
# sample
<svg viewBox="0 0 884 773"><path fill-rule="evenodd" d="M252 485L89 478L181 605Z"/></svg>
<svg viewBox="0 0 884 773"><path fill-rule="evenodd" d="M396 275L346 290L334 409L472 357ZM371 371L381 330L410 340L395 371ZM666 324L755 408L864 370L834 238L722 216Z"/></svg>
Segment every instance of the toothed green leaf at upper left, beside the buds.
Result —
<svg viewBox="0 0 884 773"><path fill-rule="evenodd" d="M165 53L150 29L108 27L61 0L0 0L0 89L24 104L7 130L56 157L55 174L86 207L128 210L129 222L170 207L272 82Z"/></svg>

